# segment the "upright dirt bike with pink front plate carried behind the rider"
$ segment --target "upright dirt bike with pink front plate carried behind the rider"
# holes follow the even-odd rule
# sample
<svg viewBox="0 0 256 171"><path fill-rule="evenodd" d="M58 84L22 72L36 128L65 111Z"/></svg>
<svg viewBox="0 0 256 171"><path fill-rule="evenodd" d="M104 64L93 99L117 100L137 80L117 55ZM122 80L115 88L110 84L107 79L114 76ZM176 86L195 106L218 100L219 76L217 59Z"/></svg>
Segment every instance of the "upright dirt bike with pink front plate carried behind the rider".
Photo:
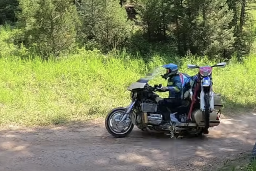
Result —
<svg viewBox="0 0 256 171"><path fill-rule="evenodd" d="M195 122L198 123L198 126L204 126L203 133L205 134L208 134L208 128L219 125L221 107L223 107L220 103L219 96L216 96L212 90L212 68L224 68L225 66L225 62L203 67L192 64L187 65L188 69L198 68L199 71L198 74L194 75L190 80L191 89L184 93L184 99L190 94L190 99L192 101L187 119L190 121L195 120ZM199 108L200 111L198 110L192 113L195 108ZM217 116L213 113L215 109L218 109Z"/></svg>

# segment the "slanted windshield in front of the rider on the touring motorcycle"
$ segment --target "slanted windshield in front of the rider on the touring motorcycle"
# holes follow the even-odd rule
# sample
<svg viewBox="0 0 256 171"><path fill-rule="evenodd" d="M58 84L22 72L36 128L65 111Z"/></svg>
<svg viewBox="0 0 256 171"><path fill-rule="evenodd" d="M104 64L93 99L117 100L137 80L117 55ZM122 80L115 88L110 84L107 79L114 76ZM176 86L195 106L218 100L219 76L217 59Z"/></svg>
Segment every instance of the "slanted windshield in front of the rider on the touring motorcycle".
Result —
<svg viewBox="0 0 256 171"><path fill-rule="evenodd" d="M127 88L127 90L134 90L134 89L142 89L145 87L145 85L148 83L148 81L152 80L155 76L159 75L161 73L161 67L156 67L152 69L148 74L131 84L130 87Z"/></svg>

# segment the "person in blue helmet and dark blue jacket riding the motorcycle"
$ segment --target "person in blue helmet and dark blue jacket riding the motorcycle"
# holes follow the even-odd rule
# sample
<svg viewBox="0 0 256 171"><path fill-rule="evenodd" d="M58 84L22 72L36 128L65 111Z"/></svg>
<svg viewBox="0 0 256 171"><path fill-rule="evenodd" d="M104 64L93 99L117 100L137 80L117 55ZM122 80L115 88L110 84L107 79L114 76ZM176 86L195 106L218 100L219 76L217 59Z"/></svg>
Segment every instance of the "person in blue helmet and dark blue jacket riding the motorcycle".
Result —
<svg viewBox="0 0 256 171"><path fill-rule="evenodd" d="M162 66L166 69L166 74L162 75L162 78L168 79L166 87L157 88L158 92L169 91L169 98L163 99L158 102L160 111L163 113L164 123L162 127L168 129L171 126L170 113L177 112L175 109L182 104L182 74L178 72L178 66L176 64L166 64ZM179 113L179 112L178 112Z"/></svg>

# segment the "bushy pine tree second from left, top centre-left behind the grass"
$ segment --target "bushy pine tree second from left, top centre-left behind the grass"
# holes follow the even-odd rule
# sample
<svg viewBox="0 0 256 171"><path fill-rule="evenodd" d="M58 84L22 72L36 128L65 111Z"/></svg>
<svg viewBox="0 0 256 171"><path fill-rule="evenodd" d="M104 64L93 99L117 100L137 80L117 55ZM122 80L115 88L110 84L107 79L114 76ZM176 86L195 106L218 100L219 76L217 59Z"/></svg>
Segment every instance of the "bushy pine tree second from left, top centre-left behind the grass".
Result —
<svg viewBox="0 0 256 171"><path fill-rule="evenodd" d="M103 50L122 48L132 33L132 23L116 0L82 0L79 14L83 43Z"/></svg>

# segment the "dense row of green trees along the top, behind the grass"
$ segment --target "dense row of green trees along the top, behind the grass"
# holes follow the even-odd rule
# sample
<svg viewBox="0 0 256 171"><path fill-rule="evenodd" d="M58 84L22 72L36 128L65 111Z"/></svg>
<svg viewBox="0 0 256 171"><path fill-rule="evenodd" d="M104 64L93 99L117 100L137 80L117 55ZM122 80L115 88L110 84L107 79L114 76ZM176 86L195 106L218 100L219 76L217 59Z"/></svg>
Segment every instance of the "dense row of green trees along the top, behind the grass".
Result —
<svg viewBox="0 0 256 171"><path fill-rule="evenodd" d="M0 0L0 24L16 26L20 48L47 58L77 47L208 55L230 59L252 49L254 0ZM24 51L24 50L22 50Z"/></svg>

